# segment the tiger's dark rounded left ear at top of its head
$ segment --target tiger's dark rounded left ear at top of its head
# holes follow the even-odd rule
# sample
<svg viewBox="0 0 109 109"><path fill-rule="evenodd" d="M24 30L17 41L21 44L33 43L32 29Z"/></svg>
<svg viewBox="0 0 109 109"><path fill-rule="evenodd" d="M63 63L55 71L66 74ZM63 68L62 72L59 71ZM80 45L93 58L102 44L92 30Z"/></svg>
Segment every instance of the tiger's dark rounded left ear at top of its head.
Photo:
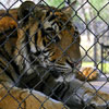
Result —
<svg viewBox="0 0 109 109"><path fill-rule="evenodd" d="M28 17L31 15L34 15L34 8L35 8L35 3L32 1L25 1L23 2L17 11L17 15L19 15L19 20L24 19L24 22L28 20Z"/></svg>

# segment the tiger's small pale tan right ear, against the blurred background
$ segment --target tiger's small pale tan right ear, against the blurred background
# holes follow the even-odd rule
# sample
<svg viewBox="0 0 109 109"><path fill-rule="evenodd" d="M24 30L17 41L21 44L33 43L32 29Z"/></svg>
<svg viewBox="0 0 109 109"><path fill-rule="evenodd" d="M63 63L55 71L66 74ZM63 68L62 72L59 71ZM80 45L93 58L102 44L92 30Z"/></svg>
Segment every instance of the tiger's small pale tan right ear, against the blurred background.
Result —
<svg viewBox="0 0 109 109"><path fill-rule="evenodd" d="M72 15L72 12L73 12L73 9L72 8L75 7L75 3L76 3L76 0L73 1L69 7L65 7L65 8L61 9L61 11L63 13L68 14L69 16L71 16Z"/></svg>

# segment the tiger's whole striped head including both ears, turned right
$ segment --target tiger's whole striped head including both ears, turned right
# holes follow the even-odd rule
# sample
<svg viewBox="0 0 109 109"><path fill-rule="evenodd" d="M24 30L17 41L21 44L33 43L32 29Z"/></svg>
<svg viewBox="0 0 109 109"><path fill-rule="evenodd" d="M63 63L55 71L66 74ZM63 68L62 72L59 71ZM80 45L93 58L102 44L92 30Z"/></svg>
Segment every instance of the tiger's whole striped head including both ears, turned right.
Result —
<svg viewBox="0 0 109 109"><path fill-rule="evenodd" d="M40 64L61 73L73 72L80 68L81 39L70 12L69 7L56 9L32 1L21 4L17 46L26 66L35 60L37 62L34 61L33 66ZM20 64L22 61L19 60Z"/></svg>

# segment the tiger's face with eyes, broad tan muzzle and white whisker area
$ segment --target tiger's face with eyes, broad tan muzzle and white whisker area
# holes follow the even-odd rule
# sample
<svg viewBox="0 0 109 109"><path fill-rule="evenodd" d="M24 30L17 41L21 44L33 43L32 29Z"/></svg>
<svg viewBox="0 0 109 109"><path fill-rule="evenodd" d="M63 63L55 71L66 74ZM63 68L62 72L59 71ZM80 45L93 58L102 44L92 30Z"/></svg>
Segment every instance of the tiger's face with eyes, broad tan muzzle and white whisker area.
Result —
<svg viewBox="0 0 109 109"><path fill-rule="evenodd" d="M74 69L81 58L78 32L72 22L68 21L69 17L64 13L51 12L44 23L46 35L43 37L41 46L38 46L43 48L44 58L47 57L47 65L53 65L63 72Z"/></svg>

